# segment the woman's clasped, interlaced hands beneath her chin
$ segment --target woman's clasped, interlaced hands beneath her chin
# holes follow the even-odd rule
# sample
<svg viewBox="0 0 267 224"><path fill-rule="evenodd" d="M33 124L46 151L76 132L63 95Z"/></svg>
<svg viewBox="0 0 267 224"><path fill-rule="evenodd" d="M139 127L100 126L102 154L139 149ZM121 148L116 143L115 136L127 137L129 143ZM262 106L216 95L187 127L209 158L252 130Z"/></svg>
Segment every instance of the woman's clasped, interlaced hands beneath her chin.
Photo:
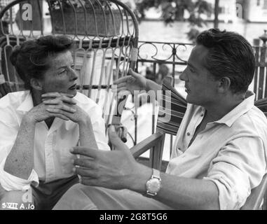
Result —
<svg viewBox="0 0 267 224"><path fill-rule="evenodd" d="M42 97L43 104L48 106L46 111L55 117L62 116L78 124L86 123L86 121L90 120L88 113L85 113L81 107L76 105L76 101L73 99L74 96L71 94L50 92L43 94ZM59 105L64 105L63 109ZM70 108L71 111L66 110L66 107Z"/></svg>

